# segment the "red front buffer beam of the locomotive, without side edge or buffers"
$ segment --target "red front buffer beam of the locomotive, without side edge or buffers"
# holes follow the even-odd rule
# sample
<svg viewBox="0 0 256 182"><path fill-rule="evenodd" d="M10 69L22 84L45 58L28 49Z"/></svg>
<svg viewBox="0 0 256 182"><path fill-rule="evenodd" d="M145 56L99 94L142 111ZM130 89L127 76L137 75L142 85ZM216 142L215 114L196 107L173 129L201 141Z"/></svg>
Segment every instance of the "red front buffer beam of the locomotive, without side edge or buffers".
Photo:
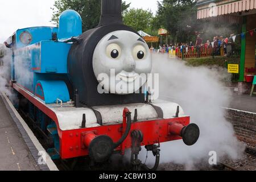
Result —
<svg viewBox="0 0 256 182"><path fill-rule="evenodd" d="M168 142L172 140L182 139L179 135L171 134L169 132L169 123L180 123L181 125L187 126L189 125L189 117L183 118L173 118L173 119L159 119L154 121L144 121L144 122L135 122L131 125L131 131L133 130L141 130L143 133L143 142L141 146L146 146L148 144L156 144L158 141L160 143ZM118 142L118 140L122 137L122 123L119 125L111 125L111 126L100 126L94 128L85 128L85 129L77 129L77 130L68 130L63 131L61 142L61 158L69 159L76 158L79 156L88 155L88 150L84 146L84 137L82 134L84 133L94 133L95 135L108 135L112 138L113 142ZM93 137L93 134L91 135ZM92 138L88 138L88 141ZM123 142L123 146L126 149L131 148L131 134L128 135L127 139ZM77 150L70 150L70 148L78 148ZM116 151L120 151L122 154L122 147L119 146L115 149Z"/></svg>

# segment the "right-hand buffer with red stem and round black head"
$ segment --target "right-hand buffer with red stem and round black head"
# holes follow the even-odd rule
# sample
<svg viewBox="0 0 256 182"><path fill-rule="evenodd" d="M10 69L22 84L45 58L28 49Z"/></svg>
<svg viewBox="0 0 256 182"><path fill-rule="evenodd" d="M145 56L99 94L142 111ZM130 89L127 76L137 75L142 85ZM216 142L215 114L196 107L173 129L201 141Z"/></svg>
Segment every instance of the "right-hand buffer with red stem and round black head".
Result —
<svg viewBox="0 0 256 182"><path fill-rule="evenodd" d="M181 125L180 123L170 123L169 132L182 137L183 142L187 146L192 146L195 144L200 136L199 127L194 123L188 126Z"/></svg>

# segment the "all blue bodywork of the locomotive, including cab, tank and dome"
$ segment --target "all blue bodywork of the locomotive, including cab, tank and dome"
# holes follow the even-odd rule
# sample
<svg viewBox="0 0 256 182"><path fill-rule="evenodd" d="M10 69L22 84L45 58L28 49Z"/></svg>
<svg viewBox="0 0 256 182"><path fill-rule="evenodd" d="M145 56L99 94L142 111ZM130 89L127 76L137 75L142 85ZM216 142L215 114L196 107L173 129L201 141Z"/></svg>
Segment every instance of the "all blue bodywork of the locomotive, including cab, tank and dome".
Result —
<svg viewBox="0 0 256 182"><path fill-rule="evenodd" d="M57 98L63 102L70 100L65 83L68 82L67 59L72 43L52 40L52 34L56 33L59 39L81 35L81 16L73 10L64 11L59 26L23 28L10 37L15 38L12 80L46 104L55 103ZM42 87L37 87L38 83Z"/></svg>

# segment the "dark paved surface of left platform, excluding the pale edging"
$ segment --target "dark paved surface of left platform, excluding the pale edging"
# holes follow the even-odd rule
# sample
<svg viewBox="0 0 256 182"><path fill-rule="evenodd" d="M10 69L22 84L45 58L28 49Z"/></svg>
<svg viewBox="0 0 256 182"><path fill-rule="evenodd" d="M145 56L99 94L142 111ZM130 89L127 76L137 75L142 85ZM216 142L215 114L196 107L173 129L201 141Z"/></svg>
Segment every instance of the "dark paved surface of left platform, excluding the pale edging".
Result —
<svg viewBox="0 0 256 182"><path fill-rule="evenodd" d="M18 127L0 97L0 170L39 170Z"/></svg>

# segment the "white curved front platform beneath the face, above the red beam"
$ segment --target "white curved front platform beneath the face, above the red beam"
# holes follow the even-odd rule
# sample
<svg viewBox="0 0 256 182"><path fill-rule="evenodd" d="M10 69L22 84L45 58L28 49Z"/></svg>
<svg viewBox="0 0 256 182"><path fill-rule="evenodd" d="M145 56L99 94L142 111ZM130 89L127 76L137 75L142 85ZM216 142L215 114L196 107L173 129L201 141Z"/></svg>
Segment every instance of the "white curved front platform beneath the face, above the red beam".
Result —
<svg viewBox="0 0 256 182"><path fill-rule="evenodd" d="M174 118L177 111L177 104L166 101L153 101L153 105L159 106L163 110L164 119ZM86 127L98 127L97 118L92 109L89 108L76 108L73 105L47 105L49 109L55 112L60 129L75 130L81 129L82 115L86 115ZM152 121L158 119L154 107L149 104L127 104L127 105L114 105L114 106L96 106L93 107L101 113L103 125L115 125L123 121L123 109L127 107L131 111L131 118L134 118L135 109L138 110L138 122ZM183 109L180 107L180 117L185 117Z"/></svg>

